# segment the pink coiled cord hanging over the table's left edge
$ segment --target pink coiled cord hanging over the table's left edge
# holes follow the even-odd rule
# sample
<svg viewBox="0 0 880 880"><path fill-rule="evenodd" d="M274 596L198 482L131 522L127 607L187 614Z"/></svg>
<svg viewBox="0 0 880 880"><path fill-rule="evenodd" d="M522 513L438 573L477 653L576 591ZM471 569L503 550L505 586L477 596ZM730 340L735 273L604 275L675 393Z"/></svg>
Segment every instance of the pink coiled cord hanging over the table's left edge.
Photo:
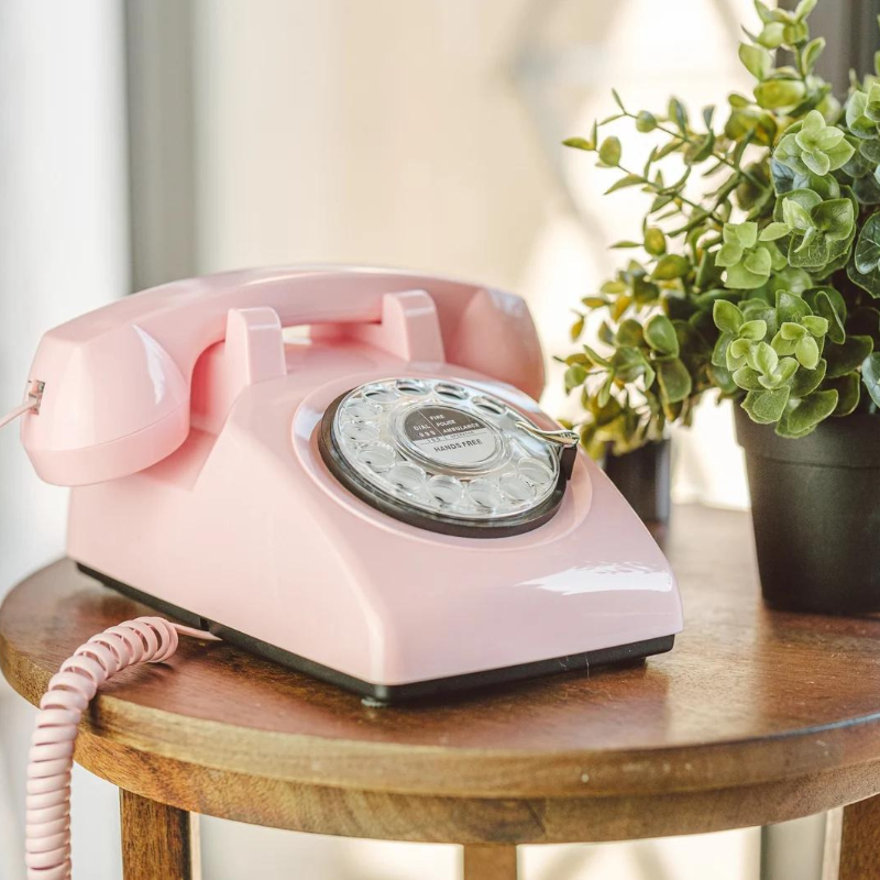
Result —
<svg viewBox="0 0 880 880"><path fill-rule="evenodd" d="M178 634L210 632L139 617L92 636L65 660L40 701L28 762L25 864L29 880L69 880L70 770L77 725L98 689L128 667L161 663L177 650Z"/></svg>

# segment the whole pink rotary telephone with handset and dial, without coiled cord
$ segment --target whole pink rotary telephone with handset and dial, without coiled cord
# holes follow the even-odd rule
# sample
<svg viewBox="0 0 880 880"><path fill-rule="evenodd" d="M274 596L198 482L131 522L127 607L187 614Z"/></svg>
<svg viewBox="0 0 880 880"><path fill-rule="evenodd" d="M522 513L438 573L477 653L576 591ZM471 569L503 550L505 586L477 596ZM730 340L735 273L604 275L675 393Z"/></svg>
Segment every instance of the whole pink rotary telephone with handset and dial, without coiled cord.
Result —
<svg viewBox="0 0 880 880"><path fill-rule="evenodd" d="M30 382L22 440L73 486L84 571L360 694L592 668L681 630L653 539L535 403L510 294L345 267L175 282L46 333Z"/></svg>

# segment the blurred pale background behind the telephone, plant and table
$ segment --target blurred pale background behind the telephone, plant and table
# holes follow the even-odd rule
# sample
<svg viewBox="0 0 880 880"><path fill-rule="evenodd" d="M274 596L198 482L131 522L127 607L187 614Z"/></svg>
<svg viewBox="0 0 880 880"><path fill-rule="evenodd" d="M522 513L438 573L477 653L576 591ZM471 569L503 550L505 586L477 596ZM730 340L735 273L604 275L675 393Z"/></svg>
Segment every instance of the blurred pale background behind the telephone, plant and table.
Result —
<svg viewBox="0 0 880 880"><path fill-rule="evenodd" d="M833 0L813 16L840 87L871 66L875 6ZM670 94L724 103L748 85L744 22L750 0L0 0L0 409L21 399L44 330L261 264L481 279L522 294L548 358L565 353L571 307L614 268L606 245L638 230L641 202L603 198L610 180L560 141L612 112L612 86L639 108L662 111ZM543 404L565 413L552 364ZM729 424L710 405L675 437L678 498L748 503ZM0 433L0 488L2 597L62 554L66 499L14 430ZM31 722L0 682L0 880L24 876ZM118 822L116 790L77 771L75 877L119 877ZM804 864L815 825L780 831ZM526 847L524 880L746 880L759 836ZM202 842L211 880L440 880L460 860L210 818Z"/></svg>

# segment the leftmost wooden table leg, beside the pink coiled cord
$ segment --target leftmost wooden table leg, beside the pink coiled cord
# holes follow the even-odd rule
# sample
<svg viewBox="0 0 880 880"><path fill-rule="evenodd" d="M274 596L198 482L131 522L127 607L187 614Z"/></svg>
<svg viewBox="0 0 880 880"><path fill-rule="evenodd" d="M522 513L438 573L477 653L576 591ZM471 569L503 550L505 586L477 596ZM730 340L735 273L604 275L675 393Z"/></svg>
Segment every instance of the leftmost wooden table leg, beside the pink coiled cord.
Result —
<svg viewBox="0 0 880 880"><path fill-rule="evenodd" d="M124 880L199 880L198 816L119 791Z"/></svg>

